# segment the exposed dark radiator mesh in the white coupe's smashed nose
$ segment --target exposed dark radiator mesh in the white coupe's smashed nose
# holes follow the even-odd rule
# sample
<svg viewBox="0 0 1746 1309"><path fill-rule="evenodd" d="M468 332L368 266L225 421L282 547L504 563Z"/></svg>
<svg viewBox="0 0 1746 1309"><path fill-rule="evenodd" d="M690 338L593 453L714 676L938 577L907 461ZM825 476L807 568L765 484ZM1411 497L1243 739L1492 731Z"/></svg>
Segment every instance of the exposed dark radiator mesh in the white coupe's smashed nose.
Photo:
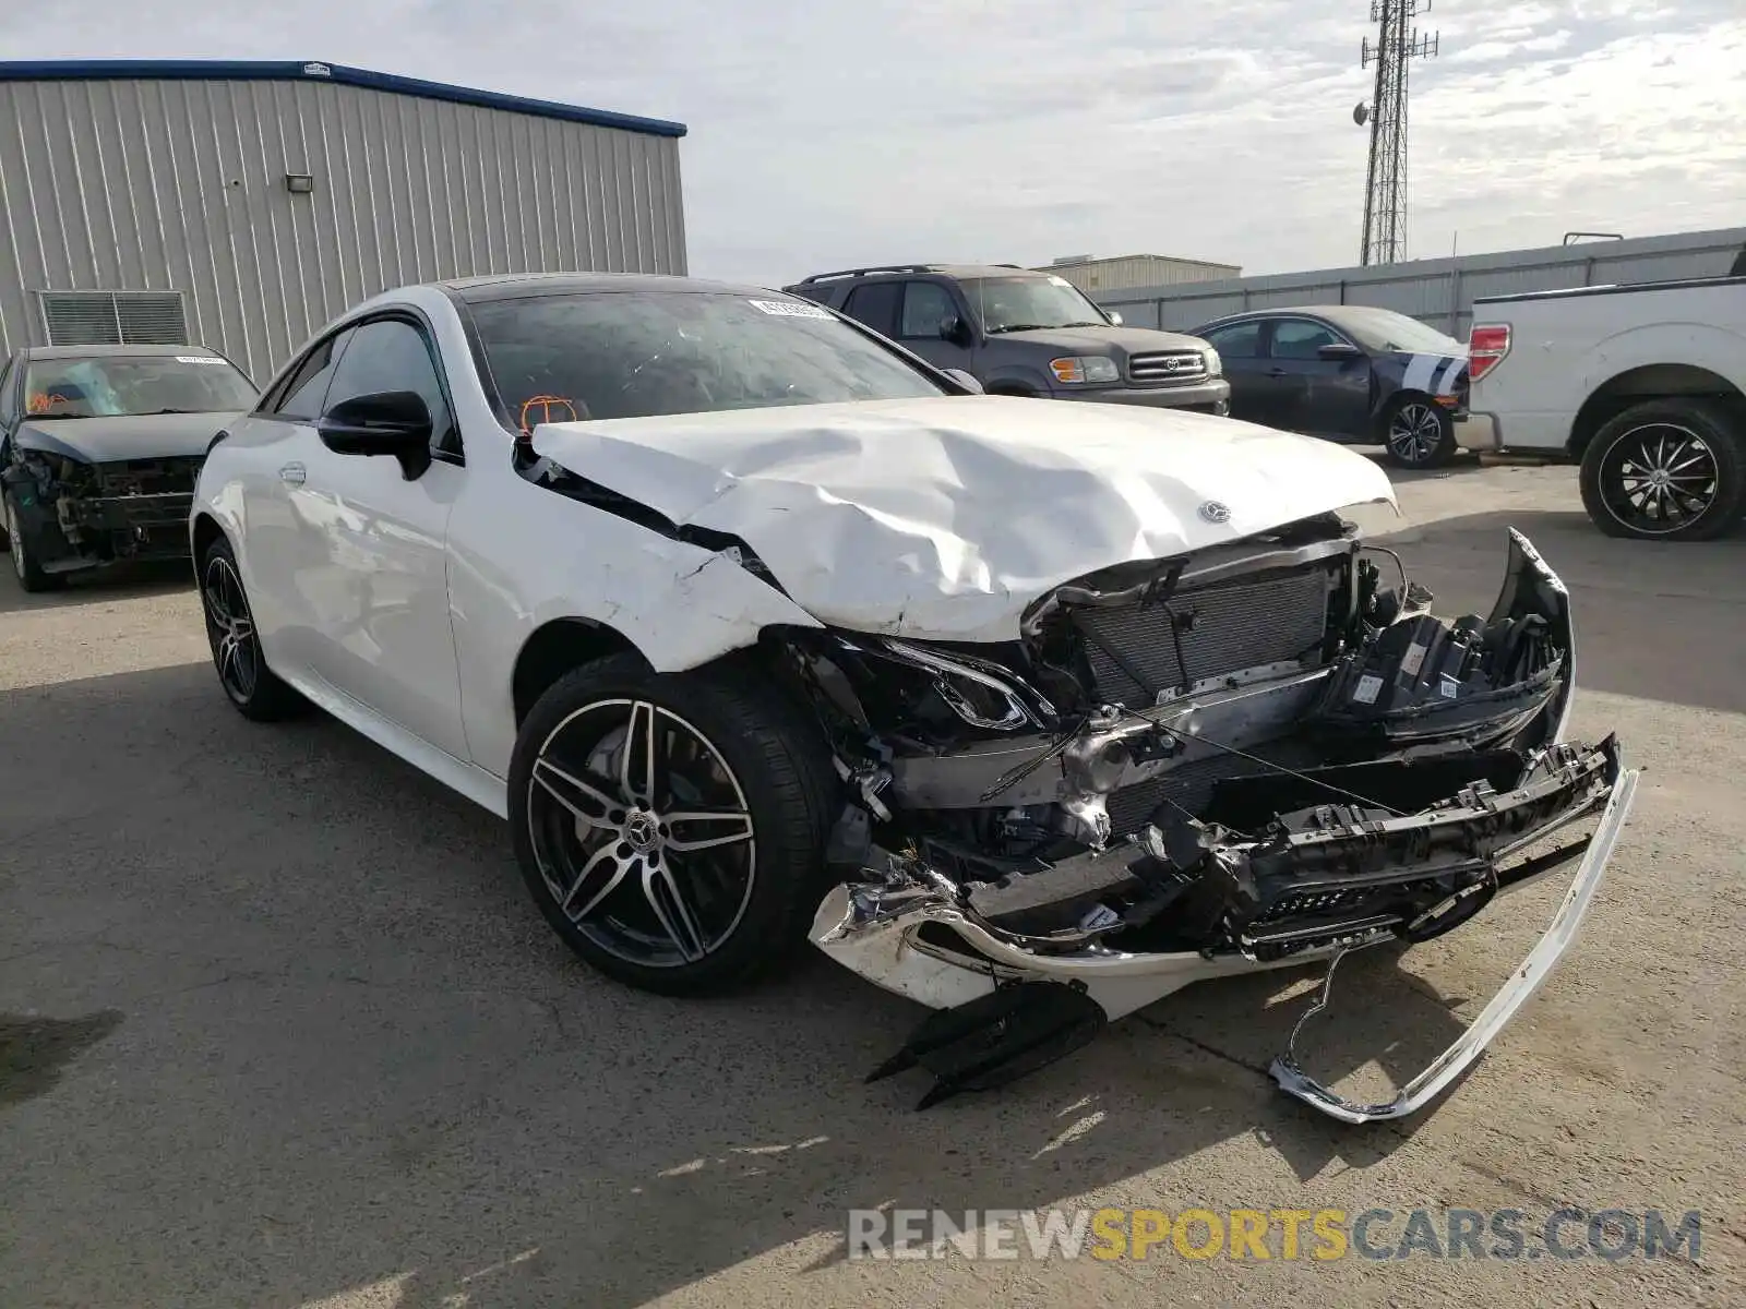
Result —
<svg viewBox="0 0 1746 1309"><path fill-rule="evenodd" d="M1304 658L1327 632L1334 578L1334 565L1316 564L1184 592L1168 604L1081 611L1098 698L1140 709L1158 691Z"/></svg>

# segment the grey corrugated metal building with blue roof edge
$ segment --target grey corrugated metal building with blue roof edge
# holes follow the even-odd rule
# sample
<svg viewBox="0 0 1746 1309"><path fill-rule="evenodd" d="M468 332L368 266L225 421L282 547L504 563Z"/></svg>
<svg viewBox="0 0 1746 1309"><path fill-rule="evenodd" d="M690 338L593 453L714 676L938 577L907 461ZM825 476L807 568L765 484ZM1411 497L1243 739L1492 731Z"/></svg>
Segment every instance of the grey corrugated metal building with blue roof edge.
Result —
<svg viewBox="0 0 1746 1309"><path fill-rule="evenodd" d="M389 286L683 274L681 136L327 63L0 63L0 358L187 340L262 384Z"/></svg>

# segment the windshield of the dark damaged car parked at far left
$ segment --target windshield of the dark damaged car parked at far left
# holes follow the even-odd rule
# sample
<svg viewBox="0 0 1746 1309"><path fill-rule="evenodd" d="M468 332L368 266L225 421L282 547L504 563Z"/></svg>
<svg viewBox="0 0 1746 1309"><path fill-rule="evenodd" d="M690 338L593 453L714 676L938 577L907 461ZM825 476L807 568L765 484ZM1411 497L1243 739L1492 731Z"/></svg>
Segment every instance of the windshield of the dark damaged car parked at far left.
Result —
<svg viewBox="0 0 1746 1309"><path fill-rule="evenodd" d="M255 407L255 387L213 354L134 354L31 360L24 410L44 419L119 419L138 414L222 414Z"/></svg>

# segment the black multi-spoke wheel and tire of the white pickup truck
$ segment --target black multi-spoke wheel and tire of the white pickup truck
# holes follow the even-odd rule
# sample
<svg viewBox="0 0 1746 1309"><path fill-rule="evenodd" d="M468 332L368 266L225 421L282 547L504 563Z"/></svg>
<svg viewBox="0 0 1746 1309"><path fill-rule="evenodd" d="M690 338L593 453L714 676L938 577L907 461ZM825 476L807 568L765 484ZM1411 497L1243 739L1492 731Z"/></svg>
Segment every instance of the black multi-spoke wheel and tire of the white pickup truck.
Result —
<svg viewBox="0 0 1746 1309"><path fill-rule="evenodd" d="M1743 442L1746 424L1713 400L1634 405L1582 452L1582 508L1606 536L1713 541L1746 510Z"/></svg>

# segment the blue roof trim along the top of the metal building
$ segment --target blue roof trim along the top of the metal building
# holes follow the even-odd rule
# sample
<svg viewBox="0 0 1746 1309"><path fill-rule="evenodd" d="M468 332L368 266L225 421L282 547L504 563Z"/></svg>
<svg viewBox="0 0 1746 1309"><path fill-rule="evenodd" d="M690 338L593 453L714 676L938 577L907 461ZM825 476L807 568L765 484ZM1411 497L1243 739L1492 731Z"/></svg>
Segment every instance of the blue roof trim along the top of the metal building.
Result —
<svg viewBox="0 0 1746 1309"><path fill-rule="evenodd" d="M159 79L178 82L339 82L340 86L391 91L400 96L449 99L456 105L533 113L541 119L587 122L595 127L620 127L646 136L684 136L683 122L641 119L634 113L560 105L553 99L527 99L498 91L475 91L447 82L426 82L398 73L372 73L320 59L0 59L0 82L105 82L115 79Z"/></svg>

